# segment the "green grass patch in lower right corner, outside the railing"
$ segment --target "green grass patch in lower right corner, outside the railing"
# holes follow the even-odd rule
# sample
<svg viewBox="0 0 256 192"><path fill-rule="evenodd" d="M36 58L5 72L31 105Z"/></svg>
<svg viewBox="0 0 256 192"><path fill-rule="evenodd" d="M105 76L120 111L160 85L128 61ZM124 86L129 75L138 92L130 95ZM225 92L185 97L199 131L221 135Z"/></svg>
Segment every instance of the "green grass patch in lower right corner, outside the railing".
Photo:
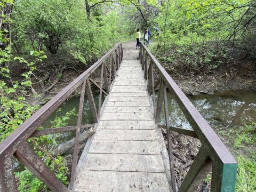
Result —
<svg viewBox="0 0 256 192"><path fill-rule="evenodd" d="M217 131L238 162L236 192L256 191L256 122Z"/></svg>

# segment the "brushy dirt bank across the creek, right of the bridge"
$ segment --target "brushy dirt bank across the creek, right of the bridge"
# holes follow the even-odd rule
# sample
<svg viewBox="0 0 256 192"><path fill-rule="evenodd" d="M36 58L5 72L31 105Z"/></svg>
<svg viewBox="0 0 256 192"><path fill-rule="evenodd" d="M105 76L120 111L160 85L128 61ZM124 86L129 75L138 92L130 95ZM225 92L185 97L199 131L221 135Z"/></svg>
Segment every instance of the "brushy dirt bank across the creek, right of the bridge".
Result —
<svg viewBox="0 0 256 192"><path fill-rule="evenodd" d="M244 45L246 46L246 45ZM187 95L228 90L256 91L256 53L225 42L155 45L150 50Z"/></svg>

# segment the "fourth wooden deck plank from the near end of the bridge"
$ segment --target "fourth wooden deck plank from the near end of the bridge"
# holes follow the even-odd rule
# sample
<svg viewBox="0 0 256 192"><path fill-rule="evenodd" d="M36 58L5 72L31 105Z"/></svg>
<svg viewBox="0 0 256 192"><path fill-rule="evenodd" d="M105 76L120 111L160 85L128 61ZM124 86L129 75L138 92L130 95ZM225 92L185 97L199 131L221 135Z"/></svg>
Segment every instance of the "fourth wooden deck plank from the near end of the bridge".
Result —
<svg viewBox="0 0 256 192"><path fill-rule="evenodd" d="M157 135L155 130L99 129L94 135L94 140L157 141Z"/></svg>

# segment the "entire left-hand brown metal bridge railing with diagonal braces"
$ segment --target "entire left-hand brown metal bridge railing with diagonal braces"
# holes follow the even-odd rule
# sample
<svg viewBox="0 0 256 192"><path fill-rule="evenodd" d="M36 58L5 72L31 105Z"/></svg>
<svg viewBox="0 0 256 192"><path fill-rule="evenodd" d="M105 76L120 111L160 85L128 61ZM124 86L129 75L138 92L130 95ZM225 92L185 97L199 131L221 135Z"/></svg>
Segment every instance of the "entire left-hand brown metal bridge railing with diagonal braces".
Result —
<svg viewBox="0 0 256 192"><path fill-rule="evenodd" d="M10 192L18 191L17 183L14 176L13 161L15 156L23 165L25 165L31 172L33 172L45 185L52 191L69 191L68 187L55 176L54 173L47 167L44 161L39 158L35 151L28 145L27 139L30 137L39 137L41 135L60 133L66 131L76 130L75 147L73 154L73 163L71 171L71 180L69 188L74 185L75 172L77 166L77 154L79 144L79 134L81 129L93 126L94 124L82 125L82 112L84 105L84 95L86 93L89 100L90 109L94 122L99 120L102 93L108 94L110 91L111 82L115 78L116 71L123 59L122 44L119 43L105 54L100 60L94 63L83 74L78 76L73 82L47 102L41 109L36 111L27 121L20 125L9 137L0 143L0 191ZM109 61L109 63L107 63ZM90 77L97 69L101 69L100 85L93 81ZM103 82L105 83L106 91L103 90ZM99 107L98 111L95 107L94 98L91 90L91 83L100 89ZM82 85L82 86L81 86ZM55 129L37 130L44 121L63 103L71 93L81 86L81 97L79 101L79 110L76 126L59 127Z"/></svg>

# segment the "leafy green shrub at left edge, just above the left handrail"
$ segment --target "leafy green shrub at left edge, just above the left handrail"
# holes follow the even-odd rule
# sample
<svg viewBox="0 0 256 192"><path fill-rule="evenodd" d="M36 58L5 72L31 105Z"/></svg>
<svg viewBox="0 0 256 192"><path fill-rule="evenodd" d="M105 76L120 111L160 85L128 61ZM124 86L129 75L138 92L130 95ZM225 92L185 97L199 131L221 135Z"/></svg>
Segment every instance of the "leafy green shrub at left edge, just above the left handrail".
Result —
<svg viewBox="0 0 256 192"><path fill-rule="evenodd" d="M26 63L28 71L21 74L24 77L23 81L13 82L10 70L6 67L1 68L0 74L9 79L11 84L9 85L6 83L6 80L0 79L0 141L4 140L38 109L38 106L30 106L26 102L25 96L32 85L31 75L33 75L33 71L36 69L35 63L45 58L43 51L31 52L31 55L35 56L36 59L30 62L22 57L13 58L9 48L2 52L6 52L8 56L6 55L3 59L0 58L0 62L18 61L19 63Z"/></svg>

